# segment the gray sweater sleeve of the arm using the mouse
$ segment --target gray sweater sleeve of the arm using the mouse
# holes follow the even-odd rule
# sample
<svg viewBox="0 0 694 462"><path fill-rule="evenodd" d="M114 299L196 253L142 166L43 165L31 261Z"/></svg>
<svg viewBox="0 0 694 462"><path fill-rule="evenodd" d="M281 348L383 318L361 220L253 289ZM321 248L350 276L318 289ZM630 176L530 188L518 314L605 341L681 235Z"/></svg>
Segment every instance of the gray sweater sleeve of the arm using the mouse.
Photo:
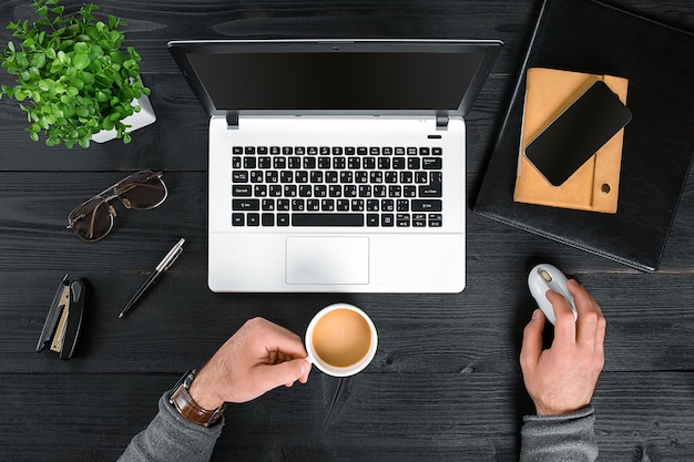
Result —
<svg viewBox="0 0 694 462"><path fill-rule="evenodd" d="M593 462L598 441L592 405L558 417L525 415L520 462Z"/></svg>

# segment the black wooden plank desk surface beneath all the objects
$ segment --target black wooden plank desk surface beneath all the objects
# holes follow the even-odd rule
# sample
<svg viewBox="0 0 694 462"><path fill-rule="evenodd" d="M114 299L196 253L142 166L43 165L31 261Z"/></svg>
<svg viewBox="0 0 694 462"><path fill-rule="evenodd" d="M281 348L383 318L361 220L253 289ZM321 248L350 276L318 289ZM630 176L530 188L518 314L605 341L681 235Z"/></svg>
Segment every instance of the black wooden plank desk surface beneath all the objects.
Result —
<svg viewBox="0 0 694 462"><path fill-rule="evenodd" d="M610 2L694 30L691 0ZM2 2L0 23L25 18L28 3ZM372 365L341 381L314 370L306 386L231 405L213 460L517 460L522 415L532 411L518 366L522 328L534 307L525 277L542 260L578 277L608 319L606 361L594 398L600 460L694 460L691 176L655 274L469 212L462 294L207 289L207 117L171 59L169 40L503 40L468 119L471 211L540 1L100 4L129 22L126 41L143 57L143 80L159 120L136 132L130 145L114 141L70 151L31 142L23 114L7 100L0 103L0 461L114 460L155 414L161 393L246 319L264 316L303 335L310 317L336 300L363 307L378 326ZM0 33L4 44L9 31ZM10 79L3 72L0 81ZM162 206L151 212L116 206L116 228L95 244L64 229L74 205L141 168L165 172L171 194ZM187 239L182 257L131 316L119 320L132 291L180 237ZM93 291L78 355L61 361L34 347L65 273L88 278Z"/></svg>

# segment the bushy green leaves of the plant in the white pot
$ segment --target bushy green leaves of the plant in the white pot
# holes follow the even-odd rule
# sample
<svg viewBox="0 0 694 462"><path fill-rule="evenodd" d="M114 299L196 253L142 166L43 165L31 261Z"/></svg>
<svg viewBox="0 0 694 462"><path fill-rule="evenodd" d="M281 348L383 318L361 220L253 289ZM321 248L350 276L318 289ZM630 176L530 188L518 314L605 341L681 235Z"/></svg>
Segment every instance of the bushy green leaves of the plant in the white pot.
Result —
<svg viewBox="0 0 694 462"><path fill-rule="evenodd" d="M141 57L132 47L121 50L125 25L109 14L98 20L94 4L84 4L71 16L58 0L34 0L39 20L10 23L12 37L0 58L2 68L17 85L0 85L3 95L19 102L29 120L29 136L44 132L49 146L64 142L88 147L101 130L116 130L116 137L130 143L122 121L140 106L133 99L149 95L140 80Z"/></svg>

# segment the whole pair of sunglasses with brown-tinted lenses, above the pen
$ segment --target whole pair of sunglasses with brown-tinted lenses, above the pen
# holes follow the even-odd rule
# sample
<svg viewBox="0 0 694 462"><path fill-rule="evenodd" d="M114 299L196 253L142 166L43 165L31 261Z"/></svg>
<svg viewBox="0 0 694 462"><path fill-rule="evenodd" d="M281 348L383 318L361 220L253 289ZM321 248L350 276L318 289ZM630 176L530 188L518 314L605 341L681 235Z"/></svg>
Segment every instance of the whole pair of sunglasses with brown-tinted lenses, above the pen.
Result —
<svg viewBox="0 0 694 462"><path fill-rule="evenodd" d="M68 215L68 228L83 240L103 239L113 228L113 217L116 216L110 204L112 199L118 197L125 208L149 211L162 204L167 195L162 172L133 173L74 207Z"/></svg>

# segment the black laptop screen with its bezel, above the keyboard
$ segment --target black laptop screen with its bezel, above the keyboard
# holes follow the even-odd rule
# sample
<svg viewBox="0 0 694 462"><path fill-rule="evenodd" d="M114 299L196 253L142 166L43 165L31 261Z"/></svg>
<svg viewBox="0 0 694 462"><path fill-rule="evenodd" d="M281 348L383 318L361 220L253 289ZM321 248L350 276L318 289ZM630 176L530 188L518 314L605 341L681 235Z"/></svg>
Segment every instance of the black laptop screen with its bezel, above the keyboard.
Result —
<svg viewBox="0 0 694 462"><path fill-rule="evenodd" d="M221 41L170 49L211 114L460 114L499 42ZM492 53L493 52L493 53Z"/></svg>

